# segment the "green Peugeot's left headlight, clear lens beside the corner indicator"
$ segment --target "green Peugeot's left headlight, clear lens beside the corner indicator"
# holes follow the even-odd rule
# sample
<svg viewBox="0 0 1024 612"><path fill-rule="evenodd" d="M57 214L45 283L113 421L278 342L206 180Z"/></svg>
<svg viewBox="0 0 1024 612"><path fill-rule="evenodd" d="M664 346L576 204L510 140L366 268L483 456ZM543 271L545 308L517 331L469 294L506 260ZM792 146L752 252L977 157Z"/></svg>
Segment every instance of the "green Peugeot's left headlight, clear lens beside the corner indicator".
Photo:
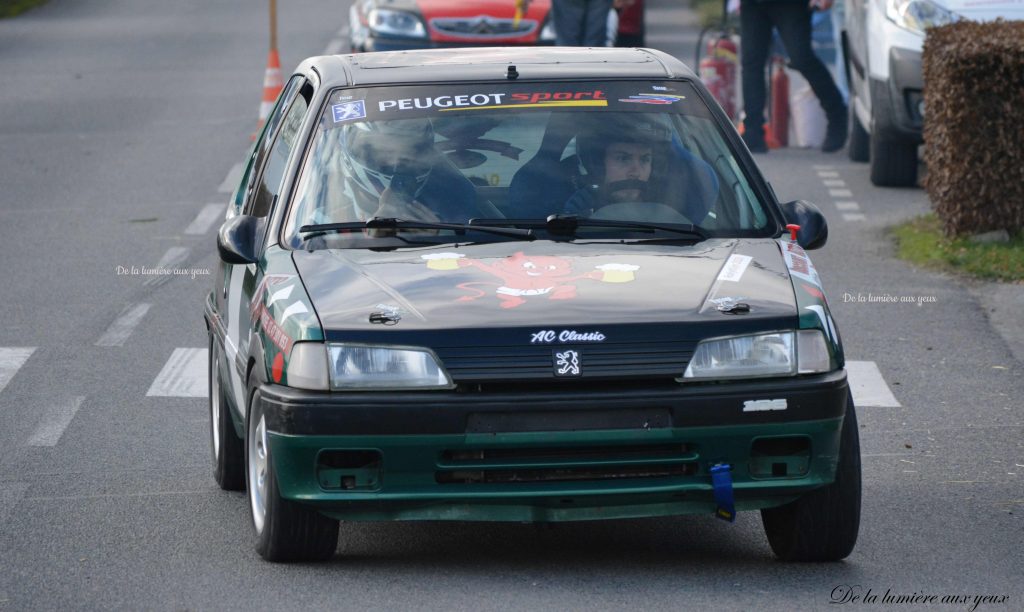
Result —
<svg viewBox="0 0 1024 612"><path fill-rule="evenodd" d="M328 345L331 389L451 389L432 351L414 347Z"/></svg>

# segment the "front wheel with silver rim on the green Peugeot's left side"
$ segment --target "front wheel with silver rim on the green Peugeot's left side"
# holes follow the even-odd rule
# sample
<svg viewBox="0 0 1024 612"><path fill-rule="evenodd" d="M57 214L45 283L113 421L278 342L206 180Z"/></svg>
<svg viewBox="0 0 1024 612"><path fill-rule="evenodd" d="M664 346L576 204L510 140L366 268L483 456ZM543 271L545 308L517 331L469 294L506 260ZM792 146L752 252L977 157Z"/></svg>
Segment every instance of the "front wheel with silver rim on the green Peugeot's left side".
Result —
<svg viewBox="0 0 1024 612"><path fill-rule="evenodd" d="M331 559L338 548L338 521L281 496L270 448L266 445L266 424L259 392L251 389L249 398L245 445L246 485L249 490L249 510L256 530L256 552L263 559L275 562ZM262 486L260 482L263 483ZM262 520L257 517L260 501L263 508Z"/></svg>

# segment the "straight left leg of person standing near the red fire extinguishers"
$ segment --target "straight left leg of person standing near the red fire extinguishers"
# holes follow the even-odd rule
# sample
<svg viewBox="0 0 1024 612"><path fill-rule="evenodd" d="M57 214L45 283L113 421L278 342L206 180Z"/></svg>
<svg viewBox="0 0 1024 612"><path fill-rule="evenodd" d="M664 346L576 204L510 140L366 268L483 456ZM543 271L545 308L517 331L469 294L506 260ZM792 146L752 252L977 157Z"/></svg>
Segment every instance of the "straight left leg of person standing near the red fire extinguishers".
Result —
<svg viewBox="0 0 1024 612"><path fill-rule="evenodd" d="M770 6L776 6L771 4ZM740 63L743 83L743 141L753 152L765 152L765 64L771 45L771 8L743 1L739 8Z"/></svg>

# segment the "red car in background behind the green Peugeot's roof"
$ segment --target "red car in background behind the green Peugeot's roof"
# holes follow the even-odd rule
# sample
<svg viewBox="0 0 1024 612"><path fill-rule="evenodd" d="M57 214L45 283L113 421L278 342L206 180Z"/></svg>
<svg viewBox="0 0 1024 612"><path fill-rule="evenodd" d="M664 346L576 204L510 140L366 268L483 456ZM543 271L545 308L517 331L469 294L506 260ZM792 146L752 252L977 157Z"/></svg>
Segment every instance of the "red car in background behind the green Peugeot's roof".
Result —
<svg viewBox="0 0 1024 612"><path fill-rule="evenodd" d="M550 9L550 0L532 0L516 19L514 0L357 0L348 13L351 49L551 45Z"/></svg>

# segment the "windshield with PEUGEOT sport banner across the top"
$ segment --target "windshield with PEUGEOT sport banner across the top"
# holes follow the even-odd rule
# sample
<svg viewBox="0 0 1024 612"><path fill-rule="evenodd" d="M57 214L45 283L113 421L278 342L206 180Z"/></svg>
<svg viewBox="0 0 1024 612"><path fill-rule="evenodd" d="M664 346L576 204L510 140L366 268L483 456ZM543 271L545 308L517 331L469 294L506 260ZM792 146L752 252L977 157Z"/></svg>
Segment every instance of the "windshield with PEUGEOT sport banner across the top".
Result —
<svg viewBox="0 0 1024 612"><path fill-rule="evenodd" d="M711 236L775 230L689 83L508 82L333 91L282 237L291 248L516 239L424 225L543 236L551 215L624 222L573 222L579 237L658 232L642 224L677 229L658 237L685 226ZM360 227L370 219L417 223Z"/></svg>

